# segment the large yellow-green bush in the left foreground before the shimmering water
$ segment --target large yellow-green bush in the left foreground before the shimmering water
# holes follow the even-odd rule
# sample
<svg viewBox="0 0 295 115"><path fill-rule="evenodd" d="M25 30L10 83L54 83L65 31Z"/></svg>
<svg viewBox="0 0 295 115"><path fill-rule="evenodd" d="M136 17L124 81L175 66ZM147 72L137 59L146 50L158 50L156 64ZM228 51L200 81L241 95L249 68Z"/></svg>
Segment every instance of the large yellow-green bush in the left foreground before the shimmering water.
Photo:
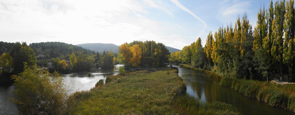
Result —
<svg viewBox="0 0 295 115"><path fill-rule="evenodd" d="M30 69L13 75L17 98L11 100L22 114L65 114L68 95L61 75L46 70Z"/></svg>

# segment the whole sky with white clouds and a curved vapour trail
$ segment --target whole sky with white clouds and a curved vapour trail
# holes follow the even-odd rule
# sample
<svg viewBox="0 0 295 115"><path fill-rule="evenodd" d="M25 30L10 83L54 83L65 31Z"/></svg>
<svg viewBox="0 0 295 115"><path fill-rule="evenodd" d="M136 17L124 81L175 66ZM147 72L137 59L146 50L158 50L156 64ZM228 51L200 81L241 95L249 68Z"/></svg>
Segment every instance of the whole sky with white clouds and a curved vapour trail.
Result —
<svg viewBox="0 0 295 115"><path fill-rule="evenodd" d="M154 40L182 49L269 0L0 0L0 41L113 43Z"/></svg>

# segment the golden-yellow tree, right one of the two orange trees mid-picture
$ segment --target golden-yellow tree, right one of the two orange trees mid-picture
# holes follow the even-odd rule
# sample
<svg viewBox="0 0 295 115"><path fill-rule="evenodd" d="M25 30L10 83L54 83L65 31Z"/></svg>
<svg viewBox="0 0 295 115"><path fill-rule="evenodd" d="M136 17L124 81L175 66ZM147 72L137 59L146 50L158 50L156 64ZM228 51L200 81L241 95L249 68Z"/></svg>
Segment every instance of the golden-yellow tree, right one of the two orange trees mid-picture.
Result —
<svg viewBox="0 0 295 115"><path fill-rule="evenodd" d="M140 64L141 53L140 48L137 44L134 44L129 48L132 53L132 58L130 59L130 63L133 67L137 67Z"/></svg>

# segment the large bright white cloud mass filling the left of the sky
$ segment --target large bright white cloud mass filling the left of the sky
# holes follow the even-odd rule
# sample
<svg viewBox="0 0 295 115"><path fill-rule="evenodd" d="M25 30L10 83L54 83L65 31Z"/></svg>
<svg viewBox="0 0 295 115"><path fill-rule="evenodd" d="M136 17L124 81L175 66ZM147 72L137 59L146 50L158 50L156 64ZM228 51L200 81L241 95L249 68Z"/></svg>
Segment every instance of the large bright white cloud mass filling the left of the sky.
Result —
<svg viewBox="0 0 295 115"><path fill-rule="evenodd" d="M171 34L182 27L178 24L147 18L143 5L174 16L162 1L1 0L0 41L121 45L154 40L178 49L195 41L195 37Z"/></svg>

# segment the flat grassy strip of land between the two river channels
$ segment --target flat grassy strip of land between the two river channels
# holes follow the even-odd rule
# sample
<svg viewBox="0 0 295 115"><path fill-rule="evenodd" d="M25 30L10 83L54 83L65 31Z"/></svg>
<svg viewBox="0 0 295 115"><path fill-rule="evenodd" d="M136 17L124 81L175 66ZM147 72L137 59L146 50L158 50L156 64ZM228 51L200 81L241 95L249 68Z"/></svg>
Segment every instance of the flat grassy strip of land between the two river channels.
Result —
<svg viewBox="0 0 295 115"><path fill-rule="evenodd" d="M188 96L177 69L109 76L104 85L77 92L70 114L241 114L232 105Z"/></svg>

